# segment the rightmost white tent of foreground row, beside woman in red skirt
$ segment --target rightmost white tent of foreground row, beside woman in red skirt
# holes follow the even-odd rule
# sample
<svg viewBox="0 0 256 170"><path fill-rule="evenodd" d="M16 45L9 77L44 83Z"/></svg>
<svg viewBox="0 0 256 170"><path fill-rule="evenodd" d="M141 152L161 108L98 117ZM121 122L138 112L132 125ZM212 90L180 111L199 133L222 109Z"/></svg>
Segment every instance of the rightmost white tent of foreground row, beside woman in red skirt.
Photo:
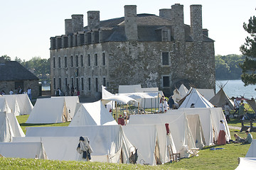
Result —
<svg viewBox="0 0 256 170"><path fill-rule="evenodd" d="M168 110L166 114L168 113L186 113L186 115L198 114L201 120L206 146L214 145L215 141L217 141L218 132L220 131L220 120L224 120L227 140L231 139L228 123L225 120L222 108L182 108L178 110Z"/></svg>

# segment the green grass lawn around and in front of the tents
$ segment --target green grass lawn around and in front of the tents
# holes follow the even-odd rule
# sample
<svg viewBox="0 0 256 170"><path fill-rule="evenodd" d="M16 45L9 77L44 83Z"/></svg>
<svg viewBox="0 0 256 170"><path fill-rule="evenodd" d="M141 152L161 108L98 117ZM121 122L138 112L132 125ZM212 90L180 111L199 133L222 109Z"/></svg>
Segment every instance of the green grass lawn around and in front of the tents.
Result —
<svg viewBox="0 0 256 170"><path fill-rule="evenodd" d="M21 128L26 132L28 126L68 126L69 123L31 125L26 124L28 115L17 116ZM229 125L240 126L239 120L232 119ZM233 140L234 133L246 137L245 132L230 129ZM256 132L252 132L256 137ZM212 147L224 148L210 150ZM167 163L158 166L142 166L133 164L107 164L99 162L60 162L41 159L0 158L0 169L235 169L238 157L245 157L250 145L228 144L223 146L204 147L198 157L181 159L180 162Z"/></svg>

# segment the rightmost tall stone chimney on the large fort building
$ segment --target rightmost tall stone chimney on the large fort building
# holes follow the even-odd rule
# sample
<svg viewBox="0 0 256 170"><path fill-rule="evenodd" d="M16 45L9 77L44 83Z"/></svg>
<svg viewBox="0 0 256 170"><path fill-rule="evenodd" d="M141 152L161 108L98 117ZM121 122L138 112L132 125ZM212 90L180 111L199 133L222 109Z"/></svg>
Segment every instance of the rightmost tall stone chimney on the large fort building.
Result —
<svg viewBox="0 0 256 170"><path fill-rule="evenodd" d="M191 35L193 41L203 42L202 6L191 5Z"/></svg>

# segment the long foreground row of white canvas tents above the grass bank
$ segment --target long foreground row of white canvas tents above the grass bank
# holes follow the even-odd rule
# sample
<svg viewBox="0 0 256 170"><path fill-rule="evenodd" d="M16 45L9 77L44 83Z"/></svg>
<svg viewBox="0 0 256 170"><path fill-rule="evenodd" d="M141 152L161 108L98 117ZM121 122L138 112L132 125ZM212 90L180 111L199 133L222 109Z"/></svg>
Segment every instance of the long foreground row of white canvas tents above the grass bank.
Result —
<svg viewBox="0 0 256 170"><path fill-rule="evenodd" d="M85 110L88 113L87 107ZM92 161L127 163L130 149L137 147L139 164L163 164L170 160L168 146L173 152L181 153L181 157L188 157L193 148L213 145L218 138L221 119L224 119L221 108L184 108L157 115L132 115L129 124L123 127L85 123L69 127L27 128L26 137L14 137L13 142L0 143L0 154L4 157L33 158L38 155L39 158L78 160L79 136L87 136L94 150ZM168 135L166 123L170 129ZM225 125L230 138L227 123ZM32 149L32 144L35 147L33 154L23 152L26 147Z"/></svg>

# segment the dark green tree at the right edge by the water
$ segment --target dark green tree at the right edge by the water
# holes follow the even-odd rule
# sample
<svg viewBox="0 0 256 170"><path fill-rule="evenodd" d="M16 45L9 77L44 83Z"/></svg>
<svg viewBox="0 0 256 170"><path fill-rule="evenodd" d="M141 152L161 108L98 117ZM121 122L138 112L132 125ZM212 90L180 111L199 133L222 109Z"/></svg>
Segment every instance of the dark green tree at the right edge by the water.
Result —
<svg viewBox="0 0 256 170"><path fill-rule="evenodd" d="M242 82L247 86L256 84L256 17L250 17L248 24L243 23L243 28L250 34L240 47L242 54L246 55L245 62L239 64L242 68Z"/></svg>

